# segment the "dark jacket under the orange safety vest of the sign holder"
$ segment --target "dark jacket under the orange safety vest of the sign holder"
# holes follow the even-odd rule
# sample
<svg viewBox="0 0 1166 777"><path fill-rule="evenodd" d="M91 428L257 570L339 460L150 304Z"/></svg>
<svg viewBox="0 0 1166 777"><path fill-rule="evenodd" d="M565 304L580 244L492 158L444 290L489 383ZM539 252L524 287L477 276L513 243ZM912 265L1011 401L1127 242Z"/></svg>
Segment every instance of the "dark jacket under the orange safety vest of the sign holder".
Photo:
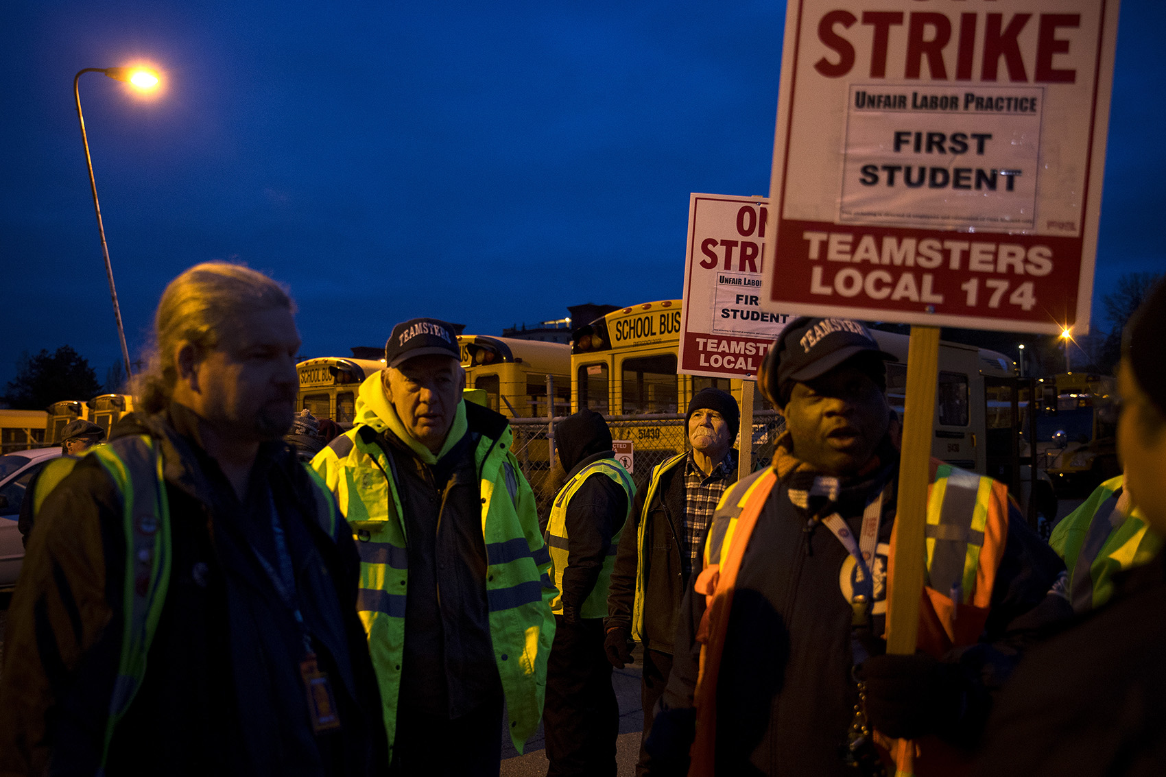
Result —
<svg viewBox="0 0 1166 777"><path fill-rule="evenodd" d="M856 537L863 506L890 481L892 494L884 502L879 526L879 542L890 542L897 464L895 456L893 467L851 481L842 490L837 511ZM855 774L840 756L857 702L851 679L852 610L840 580L848 553L826 526L812 525L809 513L791 502L791 485L809 488L799 480L806 476L813 481L813 474L792 473L774 485L742 560L717 682L718 774ZM886 552L887 546L879 550ZM982 638L947 657L957 665L967 706L962 719L946 721L950 726L943 734L967 741L982 730L991 692L1033 638L1014 621L1045 600L1061 569L1060 559L1013 506ZM652 728L653 738L658 733L661 737L649 747L653 775L687 770L691 729L677 729L693 721L701 648L695 635L704 609L705 597L689 590L676 632L677 645L686 649L677 648L674 654L662 709ZM881 635L884 629L885 618L877 615L873 632ZM665 742L666 734L679 743L662 751L655 746Z"/></svg>

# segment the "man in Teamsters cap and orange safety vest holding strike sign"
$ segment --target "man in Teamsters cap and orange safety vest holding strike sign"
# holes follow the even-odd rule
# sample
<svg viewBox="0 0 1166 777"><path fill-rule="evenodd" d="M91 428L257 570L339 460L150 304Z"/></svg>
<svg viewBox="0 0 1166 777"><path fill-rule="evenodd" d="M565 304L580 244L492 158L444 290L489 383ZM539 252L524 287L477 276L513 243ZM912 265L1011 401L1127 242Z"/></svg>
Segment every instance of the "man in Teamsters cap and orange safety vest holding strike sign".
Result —
<svg viewBox="0 0 1166 777"><path fill-rule="evenodd" d="M654 774L682 772L689 744L695 774L833 775L877 765L870 729L935 736L946 754L975 741L985 682L1010 668L988 657L1016 651L944 657L1007 642L1062 567L1003 484L937 466L919 629L933 652L880 654L899 478L890 358L862 323L829 317L796 318L766 355L760 387L786 430L772 467L732 485L709 526L647 743Z"/></svg>

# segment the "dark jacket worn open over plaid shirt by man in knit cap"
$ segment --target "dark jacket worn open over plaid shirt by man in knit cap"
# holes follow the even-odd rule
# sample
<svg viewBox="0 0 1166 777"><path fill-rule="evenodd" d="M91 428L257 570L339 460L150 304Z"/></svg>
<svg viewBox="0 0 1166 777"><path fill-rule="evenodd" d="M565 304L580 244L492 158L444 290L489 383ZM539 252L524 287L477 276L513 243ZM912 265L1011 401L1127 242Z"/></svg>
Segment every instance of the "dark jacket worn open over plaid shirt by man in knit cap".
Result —
<svg viewBox="0 0 1166 777"><path fill-rule="evenodd" d="M691 454L689 454L690 456ZM619 626L632 630L632 608L635 601L635 572L640 548L637 542L639 525L644 528L644 646L660 652L673 652L676 634L676 611L688 590L690 570L684 559L689 555L684 539L684 466L680 459L661 473L660 484L653 494L639 491L632 504L624 533L619 538L616 568L611 573L607 594L606 629ZM737 481L737 449L729 452L729 467Z"/></svg>

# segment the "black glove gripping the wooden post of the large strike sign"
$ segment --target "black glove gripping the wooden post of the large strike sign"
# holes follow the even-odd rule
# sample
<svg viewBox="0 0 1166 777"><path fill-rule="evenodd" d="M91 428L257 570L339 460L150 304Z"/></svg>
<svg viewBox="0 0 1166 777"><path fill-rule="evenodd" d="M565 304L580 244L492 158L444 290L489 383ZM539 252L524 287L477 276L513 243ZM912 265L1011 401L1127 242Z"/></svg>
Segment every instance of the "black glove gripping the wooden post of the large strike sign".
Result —
<svg viewBox="0 0 1166 777"><path fill-rule="evenodd" d="M963 709L960 666L927 653L872 656L855 677L866 684L866 719L893 738L951 732Z"/></svg>

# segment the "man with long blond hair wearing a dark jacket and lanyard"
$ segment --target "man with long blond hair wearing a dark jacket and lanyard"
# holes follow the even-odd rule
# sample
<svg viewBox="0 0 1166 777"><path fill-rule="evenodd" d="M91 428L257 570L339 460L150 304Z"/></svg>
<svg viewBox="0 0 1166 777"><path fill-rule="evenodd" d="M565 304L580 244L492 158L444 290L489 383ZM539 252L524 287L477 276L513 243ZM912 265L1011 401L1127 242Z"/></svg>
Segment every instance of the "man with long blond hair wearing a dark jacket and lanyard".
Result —
<svg viewBox="0 0 1166 777"><path fill-rule="evenodd" d="M293 313L239 265L167 286L141 412L37 516L5 638L0 774L382 765L352 538L280 439Z"/></svg>

